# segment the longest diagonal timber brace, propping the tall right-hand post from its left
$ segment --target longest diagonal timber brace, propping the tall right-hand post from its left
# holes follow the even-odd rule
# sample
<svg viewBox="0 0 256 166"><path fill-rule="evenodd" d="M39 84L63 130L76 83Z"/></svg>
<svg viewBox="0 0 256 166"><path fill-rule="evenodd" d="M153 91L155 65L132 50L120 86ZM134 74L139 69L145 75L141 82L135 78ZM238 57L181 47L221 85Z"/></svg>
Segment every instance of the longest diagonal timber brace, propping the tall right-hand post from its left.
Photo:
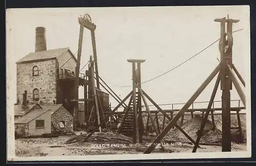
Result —
<svg viewBox="0 0 256 166"><path fill-rule="evenodd" d="M193 96L187 101L187 103L181 108L181 110L177 113L177 115L170 121L167 126L163 129L163 131L156 137L151 144L150 147L146 149L144 154L151 153L155 149L155 143L159 143L159 141L168 133L168 131L176 125L177 121L184 114L185 110L189 108L189 106L197 99L197 97L201 94L201 92L206 88L206 86L211 82L211 80L217 75L220 70L220 64L214 69L214 71L209 75L209 77L203 82L203 84L198 88L198 90L193 94Z"/></svg>

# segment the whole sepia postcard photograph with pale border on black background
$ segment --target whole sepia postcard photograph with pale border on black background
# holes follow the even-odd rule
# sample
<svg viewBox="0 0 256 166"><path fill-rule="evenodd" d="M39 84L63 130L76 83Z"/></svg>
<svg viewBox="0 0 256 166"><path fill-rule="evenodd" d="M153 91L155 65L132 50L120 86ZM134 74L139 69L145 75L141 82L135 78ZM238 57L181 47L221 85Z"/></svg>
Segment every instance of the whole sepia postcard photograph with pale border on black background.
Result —
<svg viewBox="0 0 256 166"><path fill-rule="evenodd" d="M251 156L249 6L6 10L7 159Z"/></svg>

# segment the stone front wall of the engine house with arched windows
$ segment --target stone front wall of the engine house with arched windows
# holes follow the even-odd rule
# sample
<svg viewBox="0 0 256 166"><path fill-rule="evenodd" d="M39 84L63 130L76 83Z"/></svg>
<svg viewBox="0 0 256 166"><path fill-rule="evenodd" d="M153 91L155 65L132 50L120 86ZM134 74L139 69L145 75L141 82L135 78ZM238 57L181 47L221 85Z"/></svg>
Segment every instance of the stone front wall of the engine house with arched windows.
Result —
<svg viewBox="0 0 256 166"><path fill-rule="evenodd" d="M33 66L38 66L39 75L33 76ZM17 64L17 100L22 103L23 93L33 101L33 90L39 90L39 101L45 104L56 101L56 60Z"/></svg>

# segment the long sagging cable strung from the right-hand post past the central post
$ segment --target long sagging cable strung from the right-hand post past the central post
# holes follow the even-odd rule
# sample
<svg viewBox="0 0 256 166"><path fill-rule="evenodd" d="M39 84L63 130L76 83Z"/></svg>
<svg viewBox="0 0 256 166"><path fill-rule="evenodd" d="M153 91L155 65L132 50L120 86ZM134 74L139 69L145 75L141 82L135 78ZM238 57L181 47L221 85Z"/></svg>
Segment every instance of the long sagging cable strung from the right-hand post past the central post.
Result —
<svg viewBox="0 0 256 166"><path fill-rule="evenodd" d="M231 32L231 33L235 33L235 32L241 31L241 30L243 30L243 29L239 29L239 30L233 31L233 32ZM227 33L227 34L230 34L230 33ZM192 56L192 57L188 58L187 60L183 61L183 62L180 63L179 65L177 65L177 66L175 66L175 67L173 67L173 68L167 70L166 72L164 72L164 73L161 74L161 75L158 75L158 76L156 76L156 77L154 77L154 78L151 78L151 79L149 79L149 80L143 81L143 82L141 82L141 84L144 84L144 83L153 81L153 80L155 80L155 79L157 79L157 78L159 78L159 77L162 77L162 76L166 75L167 73L169 73L169 72L171 72L172 70L178 68L179 66L181 66L181 65L183 65L184 63L188 62L189 60L195 58L197 55L201 54L202 52L204 52L205 50L207 50L208 48L210 48L212 45L214 45L214 44L215 44L216 42L218 42L219 40L220 40L220 38L217 39L217 40L215 40L214 42L212 42L212 43L209 44L208 46L206 46L203 50L201 50L200 52L198 52L198 53L195 54L194 56ZM108 82L108 81L106 81L106 82ZM132 87L132 86L133 86L133 85L120 86L120 85L112 84L112 83L110 83L110 82L108 82L108 83L111 84L111 85L113 85L113 86L116 86L116 87Z"/></svg>

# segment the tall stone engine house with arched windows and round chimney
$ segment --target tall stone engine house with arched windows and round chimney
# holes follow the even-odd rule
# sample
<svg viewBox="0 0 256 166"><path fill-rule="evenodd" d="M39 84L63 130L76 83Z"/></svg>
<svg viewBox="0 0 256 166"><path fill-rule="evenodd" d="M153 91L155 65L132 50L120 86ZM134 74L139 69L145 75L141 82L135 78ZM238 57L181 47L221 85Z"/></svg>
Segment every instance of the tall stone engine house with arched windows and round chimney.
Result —
<svg viewBox="0 0 256 166"><path fill-rule="evenodd" d="M16 64L17 104L25 90L29 102L62 104L64 99L73 98L76 58L69 48L47 50L44 27L36 28L35 52Z"/></svg>

